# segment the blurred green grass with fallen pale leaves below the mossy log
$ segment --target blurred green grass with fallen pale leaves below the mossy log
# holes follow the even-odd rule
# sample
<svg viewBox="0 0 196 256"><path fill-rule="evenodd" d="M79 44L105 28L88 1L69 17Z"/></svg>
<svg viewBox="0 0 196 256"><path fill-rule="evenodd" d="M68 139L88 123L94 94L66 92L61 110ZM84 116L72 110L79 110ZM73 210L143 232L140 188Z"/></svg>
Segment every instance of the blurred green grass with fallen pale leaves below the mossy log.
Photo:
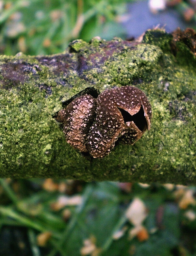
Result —
<svg viewBox="0 0 196 256"><path fill-rule="evenodd" d="M194 256L194 193L171 184L0 179L0 255L12 255L5 227L19 227L32 254L13 255Z"/></svg>

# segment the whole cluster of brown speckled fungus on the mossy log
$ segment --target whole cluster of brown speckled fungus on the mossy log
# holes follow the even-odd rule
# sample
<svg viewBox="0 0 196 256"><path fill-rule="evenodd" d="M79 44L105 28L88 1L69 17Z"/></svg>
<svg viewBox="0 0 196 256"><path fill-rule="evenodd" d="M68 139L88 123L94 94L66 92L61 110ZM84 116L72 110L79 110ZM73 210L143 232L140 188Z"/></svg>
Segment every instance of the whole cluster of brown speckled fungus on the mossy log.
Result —
<svg viewBox="0 0 196 256"><path fill-rule="evenodd" d="M97 99L84 94L58 112L67 142L93 158L109 154L115 142L133 145L150 130L151 105L138 88L105 90Z"/></svg>

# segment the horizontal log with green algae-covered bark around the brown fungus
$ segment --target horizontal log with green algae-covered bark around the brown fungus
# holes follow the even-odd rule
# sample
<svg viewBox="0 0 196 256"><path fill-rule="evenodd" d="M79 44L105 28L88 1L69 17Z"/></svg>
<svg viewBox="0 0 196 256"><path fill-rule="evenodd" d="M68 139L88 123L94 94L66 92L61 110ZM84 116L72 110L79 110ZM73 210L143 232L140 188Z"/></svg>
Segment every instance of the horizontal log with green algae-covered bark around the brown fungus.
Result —
<svg viewBox="0 0 196 256"><path fill-rule="evenodd" d="M187 58L188 56L188 58ZM152 105L151 130L102 159L65 141L55 117L87 87L125 85ZM186 43L148 31L142 43L76 40L59 55L0 57L0 176L196 184L196 58Z"/></svg>

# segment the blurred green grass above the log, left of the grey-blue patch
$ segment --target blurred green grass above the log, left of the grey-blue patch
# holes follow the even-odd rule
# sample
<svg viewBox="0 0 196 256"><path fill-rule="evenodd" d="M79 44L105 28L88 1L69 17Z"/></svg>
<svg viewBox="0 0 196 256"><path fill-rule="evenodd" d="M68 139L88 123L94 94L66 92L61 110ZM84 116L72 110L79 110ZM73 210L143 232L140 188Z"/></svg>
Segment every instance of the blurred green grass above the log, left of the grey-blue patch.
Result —
<svg viewBox="0 0 196 256"><path fill-rule="evenodd" d="M118 22L126 12L120 0L0 1L0 53L55 54L76 38L124 37Z"/></svg>

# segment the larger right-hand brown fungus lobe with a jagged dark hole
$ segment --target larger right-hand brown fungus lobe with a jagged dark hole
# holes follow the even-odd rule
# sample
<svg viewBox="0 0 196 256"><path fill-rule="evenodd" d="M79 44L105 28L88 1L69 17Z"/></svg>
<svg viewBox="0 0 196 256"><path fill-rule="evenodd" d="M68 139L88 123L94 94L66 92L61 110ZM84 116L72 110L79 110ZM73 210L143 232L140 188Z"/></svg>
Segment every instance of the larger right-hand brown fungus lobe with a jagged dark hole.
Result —
<svg viewBox="0 0 196 256"><path fill-rule="evenodd" d="M151 106L138 88L124 86L106 90L97 98L96 118L87 148L94 158L109 154L115 142L133 145L150 129Z"/></svg>

